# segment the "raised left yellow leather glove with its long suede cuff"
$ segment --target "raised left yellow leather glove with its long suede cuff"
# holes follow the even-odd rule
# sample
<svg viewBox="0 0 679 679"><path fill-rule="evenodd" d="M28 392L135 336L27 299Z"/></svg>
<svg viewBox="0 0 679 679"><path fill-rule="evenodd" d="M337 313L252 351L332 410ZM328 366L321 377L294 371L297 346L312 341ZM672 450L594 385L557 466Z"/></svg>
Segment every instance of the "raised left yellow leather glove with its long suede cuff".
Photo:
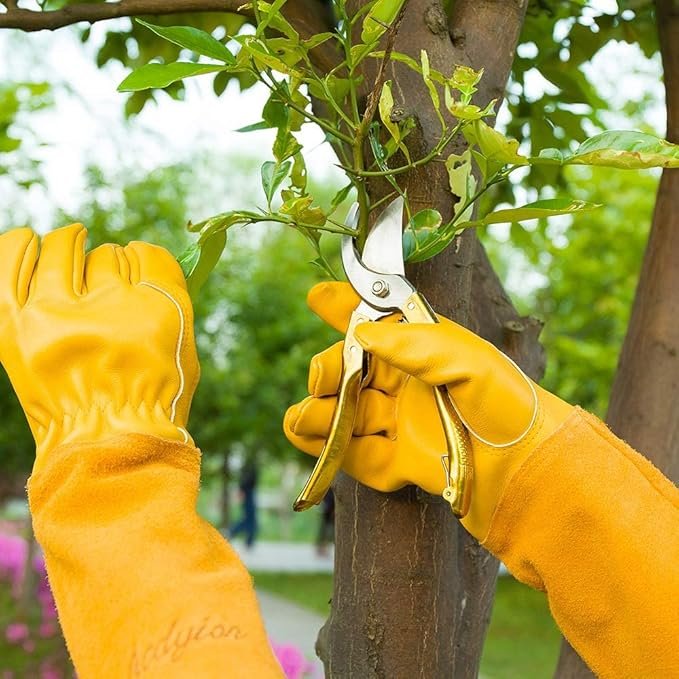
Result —
<svg viewBox="0 0 679 679"><path fill-rule="evenodd" d="M79 224L0 236L0 361L31 426L28 496L82 679L281 677L251 579L196 513L193 312L162 248Z"/></svg>

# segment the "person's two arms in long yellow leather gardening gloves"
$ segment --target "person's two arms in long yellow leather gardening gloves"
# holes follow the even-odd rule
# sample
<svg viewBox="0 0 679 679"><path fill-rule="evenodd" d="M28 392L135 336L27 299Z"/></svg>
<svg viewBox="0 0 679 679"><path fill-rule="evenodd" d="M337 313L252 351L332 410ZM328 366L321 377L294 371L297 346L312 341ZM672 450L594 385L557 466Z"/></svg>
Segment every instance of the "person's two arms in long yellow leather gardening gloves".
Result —
<svg viewBox="0 0 679 679"><path fill-rule="evenodd" d="M0 236L0 363L36 443L35 535L80 679L279 679L252 579L196 512L186 429L199 366L176 260L145 243L85 251L75 224ZM340 331L357 303L322 284L309 304ZM679 490L599 420L529 380L461 326L370 323L374 357L344 470L379 491L440 494L432 386L472 434L462 525L543 590L599 676L679 676ZM311 363L284 429L318 455L341 343ZM360 517L359 517L360 518ZM451 521L455 519L451 516Z"/></svg>

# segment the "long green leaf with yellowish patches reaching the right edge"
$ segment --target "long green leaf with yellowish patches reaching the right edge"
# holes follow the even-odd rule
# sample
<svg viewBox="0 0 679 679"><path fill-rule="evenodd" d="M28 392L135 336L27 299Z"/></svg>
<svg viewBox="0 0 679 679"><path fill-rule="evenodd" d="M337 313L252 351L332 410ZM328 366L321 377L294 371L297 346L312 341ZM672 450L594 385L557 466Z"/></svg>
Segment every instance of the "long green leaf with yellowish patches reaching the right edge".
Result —
<svg viewBox="0 0 679 679"><path fill-rule="evenodd" d="M617 130L584 141L573 154L543 149L531 164L602 165L624 170L647 167L679 167L679 145L651 134Z"/></svg>

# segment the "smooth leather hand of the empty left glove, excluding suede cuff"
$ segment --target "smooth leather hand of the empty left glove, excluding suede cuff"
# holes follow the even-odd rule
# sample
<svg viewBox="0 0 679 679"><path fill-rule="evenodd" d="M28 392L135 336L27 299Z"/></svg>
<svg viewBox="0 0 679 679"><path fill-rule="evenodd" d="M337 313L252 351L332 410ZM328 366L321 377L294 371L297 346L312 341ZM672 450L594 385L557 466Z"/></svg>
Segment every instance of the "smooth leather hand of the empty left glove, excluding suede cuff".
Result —
<svg viewBox="0 0 679 679"><path fill-rule="evenodd" d="M85 256L86 238L80 224L41 248L30 229L0 236L0 362L35 438L35 469L61 444L117 433L189 441L199 367L179 265L146 243Z"/></svg>

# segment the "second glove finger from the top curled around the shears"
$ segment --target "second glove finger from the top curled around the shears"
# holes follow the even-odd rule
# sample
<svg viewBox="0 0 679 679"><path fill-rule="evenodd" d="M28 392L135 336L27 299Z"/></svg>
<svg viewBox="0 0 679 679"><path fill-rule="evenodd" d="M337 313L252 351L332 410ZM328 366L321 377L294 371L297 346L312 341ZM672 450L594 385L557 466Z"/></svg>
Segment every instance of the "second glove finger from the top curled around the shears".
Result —
<svg viewBox="0 0 679 679"><path fill-rule="evenodd" d="M344 342L337 342L316 354L309 366L309 394L312 396L333 396L339 391L342 380L342 350ZM367 386L389 396L395 396L403 386L405 373L388 363L371 357L370 378Z"/></svg>

